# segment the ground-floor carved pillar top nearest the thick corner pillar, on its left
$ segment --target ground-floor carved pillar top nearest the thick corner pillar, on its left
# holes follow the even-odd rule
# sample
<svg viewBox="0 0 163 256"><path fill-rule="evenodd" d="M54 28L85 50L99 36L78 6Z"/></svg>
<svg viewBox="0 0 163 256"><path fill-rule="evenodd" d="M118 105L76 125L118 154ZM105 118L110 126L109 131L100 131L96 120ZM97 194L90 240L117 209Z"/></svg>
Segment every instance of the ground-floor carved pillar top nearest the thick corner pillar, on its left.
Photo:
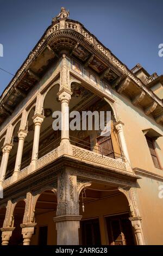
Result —
<svg viewBox="0 0 163 256"><path fill-rule="evenodd" d="M23 223L21 224L23 245L30 245L30 239L34 234L34 228L37 223Z"/></svg>

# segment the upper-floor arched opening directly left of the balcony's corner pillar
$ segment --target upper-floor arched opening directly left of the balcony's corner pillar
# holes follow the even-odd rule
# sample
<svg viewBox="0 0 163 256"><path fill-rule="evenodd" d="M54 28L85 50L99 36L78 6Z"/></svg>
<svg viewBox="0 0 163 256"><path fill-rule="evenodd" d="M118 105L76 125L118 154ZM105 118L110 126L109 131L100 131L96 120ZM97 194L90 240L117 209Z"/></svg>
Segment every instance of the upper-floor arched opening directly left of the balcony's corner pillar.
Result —
<svg viewBox="0 0 163 256"><path fill-rule="evenodd" d="M55 84L48 90L43 102L45 119L41 125L38 158L57 148L60 144L61 131L54 131L52 127L54 121L52 118L53 112L61 111L61 104L57 96L58 92L59 84Z"/></svg>

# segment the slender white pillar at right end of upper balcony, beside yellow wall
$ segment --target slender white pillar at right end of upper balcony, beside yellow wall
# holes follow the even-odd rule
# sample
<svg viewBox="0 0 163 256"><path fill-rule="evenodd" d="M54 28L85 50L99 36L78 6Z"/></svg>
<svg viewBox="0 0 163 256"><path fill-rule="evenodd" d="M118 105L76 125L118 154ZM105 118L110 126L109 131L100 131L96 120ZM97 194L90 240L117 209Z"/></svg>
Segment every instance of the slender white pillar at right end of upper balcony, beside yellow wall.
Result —
<svg viewBox="0 0 163 256"><path fill-rule="evenodd" d="M115 127L116 127L116 130L117 130L117 133L118 133L118 137L120 139L122 154L124 155L125 160L127 160L128 163L129 163L130 160L129 160L129 155L128 155L126 141L125 141L124 134L123 134L122 125L123 125L123 123L121 121L118 121L117 123L115 123Z"/></svg>

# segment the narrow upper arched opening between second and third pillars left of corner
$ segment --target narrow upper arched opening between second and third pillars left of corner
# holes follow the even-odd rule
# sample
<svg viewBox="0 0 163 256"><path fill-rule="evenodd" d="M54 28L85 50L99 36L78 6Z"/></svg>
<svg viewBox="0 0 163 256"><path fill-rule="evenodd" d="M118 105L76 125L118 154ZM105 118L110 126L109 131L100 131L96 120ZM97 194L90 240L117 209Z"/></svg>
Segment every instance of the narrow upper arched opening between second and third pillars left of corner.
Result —
<svg viewBox="0 0 163 256"><path fill-rule="evenodd" d="M28 131L27 136L24 140L23 154L22 154L22 162L21 162L21 170L27 166L29 166L30 161L32 159L32 149L33 149L33 138L34 138L34 123L33 116L35 113L35 106L30 109L27 118L27 126L26 130Z"/></svg>

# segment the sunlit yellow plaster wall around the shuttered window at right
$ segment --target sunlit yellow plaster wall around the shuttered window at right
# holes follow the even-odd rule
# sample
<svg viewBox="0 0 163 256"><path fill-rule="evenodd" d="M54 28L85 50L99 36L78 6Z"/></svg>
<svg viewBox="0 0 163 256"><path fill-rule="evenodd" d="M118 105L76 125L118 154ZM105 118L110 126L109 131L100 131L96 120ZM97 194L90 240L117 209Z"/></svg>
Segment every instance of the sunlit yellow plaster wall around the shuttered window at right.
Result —
<svg viewBox="0 0 163 256"><path fill-rule="evenodd" d="M151 117L147 117L142 109L133 106L131 101L125 96L115 93L117 99L118 112L124 123L123 132L127 143L131 166L137 167L156 176L141 176L137 181L136 197L142 216L143 233L147 245L163 245L163 199L158 196L159 185L163 184L163 170L154 167L151 154L149 153L145 135L142 130L152 128L162 133L162 127L155 123ZM161 166L163 166L163 137L156 140L156 151L158 153ZM149 178L150 177L150 178Z"/></svg>

